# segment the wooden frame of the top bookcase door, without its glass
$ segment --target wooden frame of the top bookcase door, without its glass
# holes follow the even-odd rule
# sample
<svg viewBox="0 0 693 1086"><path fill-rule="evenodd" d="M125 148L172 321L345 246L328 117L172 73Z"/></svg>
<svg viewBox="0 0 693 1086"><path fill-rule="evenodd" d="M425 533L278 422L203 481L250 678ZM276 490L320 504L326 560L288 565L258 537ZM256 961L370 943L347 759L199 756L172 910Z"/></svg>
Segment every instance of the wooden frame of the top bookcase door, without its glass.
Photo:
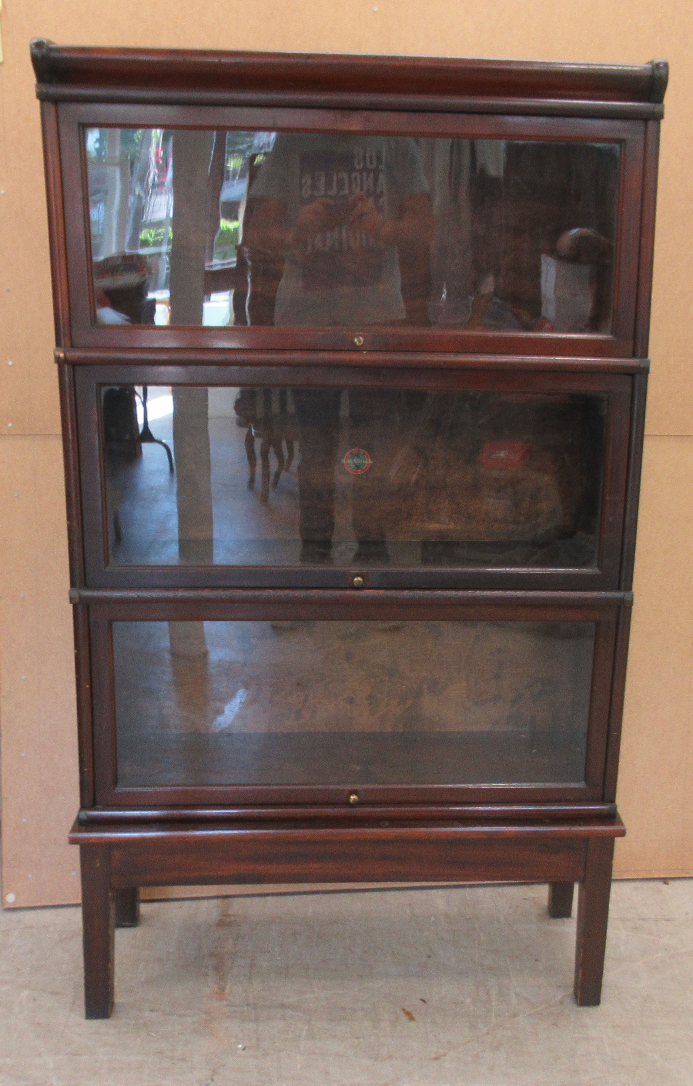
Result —
<svg viewBox="0 0 693 1086"><path fill-rule="evenodd" d="M98 114L94 113L98 109ZM344 131L353 134L352 112L327 109L224 109L185 105L159 106L160 127L212 127L273 131ZM94 324L93 276L89 230L89 203L84 128L97 123L140 128L151 125L151 108L130 104L63 103L60 111L60 152L65 215L71 224L66 239L70 269L72 342L80 348L137 350L138 348L250 349L253 351L351 351L358 355L380 351L554 355L557 357L631 357L635 321L639 237L642 215L644 130L640 121L565 117L524 117L508 111L502 116L450 113L378 112L357 115L367 132L396 131L403 136L465 139L533 139L606 142L620 147L620 198L615 245L615 283L612 332L493 331L446 329L426 325L401 327L325 326L247 327L110 325Z"/></svg>

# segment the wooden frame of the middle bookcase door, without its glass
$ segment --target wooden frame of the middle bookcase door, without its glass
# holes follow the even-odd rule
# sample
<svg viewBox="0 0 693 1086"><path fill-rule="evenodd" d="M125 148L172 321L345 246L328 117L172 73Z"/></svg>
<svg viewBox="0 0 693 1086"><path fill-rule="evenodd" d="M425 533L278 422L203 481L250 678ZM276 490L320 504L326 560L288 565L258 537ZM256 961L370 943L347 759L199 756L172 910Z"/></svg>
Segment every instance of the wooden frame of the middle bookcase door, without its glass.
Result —
<svg viewBox="0 0 693 1086"><path fill-rule="evenodd" d="M255 362L244 353L244 362ZM302 361L302 359L301 359ZM604 469L602 479L598 555L595 566L579 568L484 568L463 566L450 568L370 567L363 571L367 588L374 589L489 589L513 591L526 589L608 591L618 589L623 539L623 507L629 444L631 443L631 402L634 378L621 374L590 370L566 374L554 361L555 369L536 371L519 368L470 368L466 359L456 357L445 369L414 370L396 368L396 356L388 355L386 366L368 368L326 365L294 365L279 368L256 365L241 367L121 366L79 365L75 367L77 411L81 434L80 460L83 479L83 517L87 579L90 589L158 588L345 588L351 586L351 567L329 568L261 567L210 565L190 568L177 566L117 566L109 561L109 522L105 480L101 469L100 389L103 386L171 384L218 387L337 387L388 389L439 389L509 392L519 395L596 393L608 397ZM493 359L495 361L495 359ZM299 359L297 359L297 363ZM634 443L634 439L633 439ZM630 552L629 552L630 553ZM358 572L362 572L358 570Z"/></svg>

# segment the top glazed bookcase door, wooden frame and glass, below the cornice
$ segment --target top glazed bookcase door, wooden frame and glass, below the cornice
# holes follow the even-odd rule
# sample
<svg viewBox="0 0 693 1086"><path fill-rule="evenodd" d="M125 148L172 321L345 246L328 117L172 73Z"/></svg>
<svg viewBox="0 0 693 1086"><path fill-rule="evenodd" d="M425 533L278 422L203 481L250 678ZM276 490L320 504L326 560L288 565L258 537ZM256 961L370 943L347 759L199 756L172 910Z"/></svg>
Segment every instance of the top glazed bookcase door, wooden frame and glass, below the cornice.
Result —
<svg viewBox="0 0 693 1086"><path fill-rule="evenodd" d="M73 344L632 355L643 122L358 121L62 103Z"/></svg>

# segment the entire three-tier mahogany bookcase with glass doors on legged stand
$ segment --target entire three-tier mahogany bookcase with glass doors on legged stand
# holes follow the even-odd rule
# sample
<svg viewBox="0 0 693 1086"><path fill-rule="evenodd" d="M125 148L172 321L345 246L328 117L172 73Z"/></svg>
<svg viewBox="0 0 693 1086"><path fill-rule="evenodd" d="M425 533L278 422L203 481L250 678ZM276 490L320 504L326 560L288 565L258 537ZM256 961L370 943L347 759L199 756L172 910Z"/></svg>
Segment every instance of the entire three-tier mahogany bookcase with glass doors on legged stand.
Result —
<svg viewBox="0 0 693 1086"><path fill-rule="evenodd" d="M666 63L32 58L87 1016L223 883L578 883L598 1003Z"/></svg>

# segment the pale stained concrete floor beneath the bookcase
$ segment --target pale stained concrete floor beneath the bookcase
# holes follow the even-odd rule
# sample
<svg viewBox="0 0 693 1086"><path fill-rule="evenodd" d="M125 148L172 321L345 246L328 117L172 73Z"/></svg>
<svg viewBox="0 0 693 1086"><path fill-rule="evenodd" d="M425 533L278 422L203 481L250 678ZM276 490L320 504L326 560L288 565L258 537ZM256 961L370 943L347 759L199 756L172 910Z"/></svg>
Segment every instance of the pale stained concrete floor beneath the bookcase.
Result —
<svg viewBox="0 0 693 1086"><path fill-rule="evenodd" d="M76 908L0 915L2 1086L691 1086L693 881L616 883L602 1006L544 886L148 902L85 1022ZM574 909L575 912L575 909Z"/></svg>

